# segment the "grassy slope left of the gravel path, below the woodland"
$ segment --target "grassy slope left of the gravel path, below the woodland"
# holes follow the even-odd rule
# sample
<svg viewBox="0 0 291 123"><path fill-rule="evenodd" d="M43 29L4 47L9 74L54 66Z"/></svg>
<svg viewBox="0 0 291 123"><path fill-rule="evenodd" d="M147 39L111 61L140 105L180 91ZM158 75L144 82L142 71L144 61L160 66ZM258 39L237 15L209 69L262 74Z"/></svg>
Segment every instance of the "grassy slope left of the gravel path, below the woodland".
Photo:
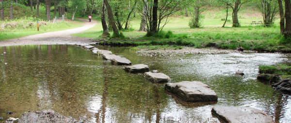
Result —
<svg viewBox="0 0 291 123"><path fill-rule="evenodd" d="M9 15L9 9L5 9L5 18L7 19ZM22 17L35 17L36 11L30 11L30 8L24 5L16 5L14 6L14 18L22 18ZM40 7L39 9L39 19L40 20L46 20L46 14L45 14L45 8L43 6ZM53 13L51 13L53 15ZM36 25L36 20L34 19L33 23ZM13 21L0 21L1 23L9 23L9 22L15 22L15 23L23 23L23 20L18 19L18 20L13 20ZM65 29L70 29L70 28L75 28L75 27L81 27L83 26L83 23L80 21L66 21L66 22L61 22L57 24L52 24L48 23L46 26L40 27L40 31L37 31L36 26L33 27L28 27L28 28L23 28L23 27L17 27L14 29L8 29L5 31L0 32L0 41L8 40L8 39L15 39L15 38L20 38L28 35L33 35L33 34L39 34L39 33L44 33L44 32L51 32L51 31L59 31L59 30L65 30Z"/></svg>

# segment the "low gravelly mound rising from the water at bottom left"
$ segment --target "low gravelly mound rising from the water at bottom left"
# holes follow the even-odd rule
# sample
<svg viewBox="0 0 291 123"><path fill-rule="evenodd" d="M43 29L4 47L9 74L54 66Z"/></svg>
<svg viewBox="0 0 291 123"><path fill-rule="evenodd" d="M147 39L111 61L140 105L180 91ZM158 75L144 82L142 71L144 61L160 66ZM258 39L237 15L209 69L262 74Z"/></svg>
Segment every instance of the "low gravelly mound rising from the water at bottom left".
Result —
<svg viewBox="0 0 291 123"><path fill-rule="evenodd" d="M72 117L65 117L53 110L28 112L23 114L18 123L79 123Z"/></svg>

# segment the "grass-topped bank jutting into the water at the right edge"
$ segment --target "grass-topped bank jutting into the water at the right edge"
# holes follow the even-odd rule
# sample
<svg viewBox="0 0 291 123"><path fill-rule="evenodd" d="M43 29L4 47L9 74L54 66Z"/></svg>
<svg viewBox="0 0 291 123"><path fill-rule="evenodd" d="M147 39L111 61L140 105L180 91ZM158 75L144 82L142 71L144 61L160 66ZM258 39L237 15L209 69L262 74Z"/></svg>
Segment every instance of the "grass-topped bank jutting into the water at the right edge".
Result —
<svg viewBox="0 0 291 123"><path fill-rule="evenodd" d="M291 78L291 64L260 65L259 73L280 74L282 78Z"/></svg>

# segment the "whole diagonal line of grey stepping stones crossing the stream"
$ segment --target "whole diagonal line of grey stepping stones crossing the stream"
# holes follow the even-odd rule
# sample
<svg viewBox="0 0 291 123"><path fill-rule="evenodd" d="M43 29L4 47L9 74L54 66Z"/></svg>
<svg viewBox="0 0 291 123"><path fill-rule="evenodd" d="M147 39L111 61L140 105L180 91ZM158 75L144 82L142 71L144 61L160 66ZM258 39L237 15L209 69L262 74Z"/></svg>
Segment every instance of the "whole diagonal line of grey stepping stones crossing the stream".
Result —
<svg viewBox="0 0 291 123"><path fill-rule="evenodd" d="M91 50L94 54L101 55L103 59L110 60L113 65L131 65L127 58L113 55L111 51L99 50L89 44L75 45ZM203 82L183 81L171 83L169 76L158 72L158 70L149 71L148 66L144 64L127 66L124 70L129 73L144 73L144 77L150 82L166 83L165 90L185 101L217 101L218 99L216 93ZM211 112L226 123L274 123L273 118L262 110L249 107L214 106Z"/></svg>

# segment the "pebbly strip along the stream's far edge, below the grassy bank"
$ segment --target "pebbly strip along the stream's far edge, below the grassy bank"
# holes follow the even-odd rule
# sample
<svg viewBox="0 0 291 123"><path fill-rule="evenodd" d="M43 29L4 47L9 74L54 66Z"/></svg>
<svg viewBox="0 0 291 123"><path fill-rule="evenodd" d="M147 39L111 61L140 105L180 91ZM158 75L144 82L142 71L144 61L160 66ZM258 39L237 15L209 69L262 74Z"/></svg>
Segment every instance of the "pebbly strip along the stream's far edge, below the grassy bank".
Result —
<svg viewBox="0 0 291 123"><path fill-rule="evenodd" d="M251 52L251 51L247 51ZM242 53L237 50L222 50L222 49L216 49L216 48L203 48L203 49L197 49L197 48L183 48L178 50L173 49L159 49L159 50L141 50L137 51L139 55L146 55L146 56L166 56L166 55L186 55L186 54L229 54L229 53Z"/></svg>

